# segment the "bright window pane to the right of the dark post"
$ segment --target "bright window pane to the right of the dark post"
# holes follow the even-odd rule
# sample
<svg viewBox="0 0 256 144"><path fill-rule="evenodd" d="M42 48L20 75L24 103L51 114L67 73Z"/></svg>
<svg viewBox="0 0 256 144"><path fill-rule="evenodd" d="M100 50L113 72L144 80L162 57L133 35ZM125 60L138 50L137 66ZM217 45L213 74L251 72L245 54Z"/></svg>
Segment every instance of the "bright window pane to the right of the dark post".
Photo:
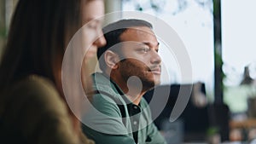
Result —
<svg viewBox="0 0 256 144"><path fill-rule="evenodd" d="M256 78L256 1L224 0L221 4L224 102L231 112L246 112L247 98L256 97L255 85L241 84L246 66L252 80Z"/></svg>

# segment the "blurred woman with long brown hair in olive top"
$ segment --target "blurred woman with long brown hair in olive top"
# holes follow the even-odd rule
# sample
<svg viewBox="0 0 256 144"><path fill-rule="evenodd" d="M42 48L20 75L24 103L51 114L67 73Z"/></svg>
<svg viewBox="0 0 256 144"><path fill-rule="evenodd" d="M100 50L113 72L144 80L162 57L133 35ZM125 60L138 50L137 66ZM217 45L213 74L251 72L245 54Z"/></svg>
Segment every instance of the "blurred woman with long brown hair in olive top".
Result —
<svg viewBox="0 0 256 144"><path fill-rule="evenodd" d="M73 34L99 14L101 0L19 1L0 63L0 143L93 143L65 101L61 65ZM100 25L84 36L92 52L106 43Z"/></svg>

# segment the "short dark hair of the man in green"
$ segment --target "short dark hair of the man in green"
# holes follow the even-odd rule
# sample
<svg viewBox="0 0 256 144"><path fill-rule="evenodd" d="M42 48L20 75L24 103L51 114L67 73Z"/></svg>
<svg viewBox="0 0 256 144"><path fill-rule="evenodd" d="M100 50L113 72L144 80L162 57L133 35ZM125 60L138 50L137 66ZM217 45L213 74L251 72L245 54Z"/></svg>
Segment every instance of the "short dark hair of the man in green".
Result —
<svg viewBox="0 0 256 144"><path fill-rule="evenodd" d="M150 29L153 29L153 26L145 20L137 20L137 19L127 19L127 20L119 20L105 26L102 31L104 33L104 37L106 38L107 44L102 48L97 50L97 59L99 60L99 66L104 71L106 69L106 62L101 56L107 51L109 48L113 47L113 45L120 43L120 35L124 33L127 29L134 26L146 26Z"/></svg>

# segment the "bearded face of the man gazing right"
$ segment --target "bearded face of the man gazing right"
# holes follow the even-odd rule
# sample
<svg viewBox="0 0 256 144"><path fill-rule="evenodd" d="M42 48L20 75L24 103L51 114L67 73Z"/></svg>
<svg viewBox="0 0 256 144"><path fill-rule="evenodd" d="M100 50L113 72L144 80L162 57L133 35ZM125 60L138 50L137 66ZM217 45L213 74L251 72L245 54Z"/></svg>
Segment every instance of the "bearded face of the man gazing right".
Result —
<svg viewBox="0 0 256 144"><path fill-rule="evenodd" d="M160 84L159 43L154 32L146 26L135 26L121 34L119 72L125 80L131 76L140 78L143 86L152 88Z"/></svg>

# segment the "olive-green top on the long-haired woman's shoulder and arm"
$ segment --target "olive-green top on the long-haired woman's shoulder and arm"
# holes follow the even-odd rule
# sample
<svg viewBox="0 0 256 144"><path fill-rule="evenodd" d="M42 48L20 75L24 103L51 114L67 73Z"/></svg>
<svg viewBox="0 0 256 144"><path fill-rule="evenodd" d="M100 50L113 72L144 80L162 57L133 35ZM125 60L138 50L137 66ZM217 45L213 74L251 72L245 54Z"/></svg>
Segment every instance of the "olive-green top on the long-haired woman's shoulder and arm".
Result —
<svg viewBox="0 0 256 144"><path fill-rule="evenodd" d="M0 106L0 110L2 107L4 130L11 130L12 137L13 134L32 140L38 137L43 143L77 141L67 105L48 78L37 75L23 78L13 84L5 97L5 107Z"/></svg>

